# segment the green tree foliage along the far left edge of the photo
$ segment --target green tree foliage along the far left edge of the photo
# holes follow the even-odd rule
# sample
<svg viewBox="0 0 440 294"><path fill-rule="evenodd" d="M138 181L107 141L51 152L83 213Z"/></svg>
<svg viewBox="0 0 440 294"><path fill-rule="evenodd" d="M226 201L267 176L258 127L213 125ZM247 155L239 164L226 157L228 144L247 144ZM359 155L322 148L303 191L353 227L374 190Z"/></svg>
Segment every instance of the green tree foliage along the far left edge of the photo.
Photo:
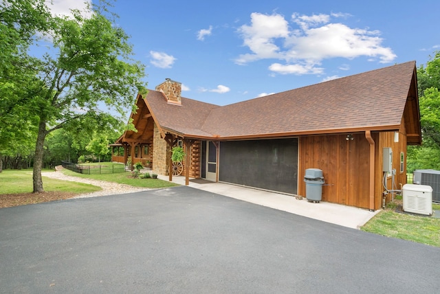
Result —
<svg viewBox="0 0 440 294"><path fill-rule="evenodd" d="M1 157L34 148L38 117L27 104L39 89L39 60L28 51L49 16L44 0L0 1L0 172Z"/></svg>

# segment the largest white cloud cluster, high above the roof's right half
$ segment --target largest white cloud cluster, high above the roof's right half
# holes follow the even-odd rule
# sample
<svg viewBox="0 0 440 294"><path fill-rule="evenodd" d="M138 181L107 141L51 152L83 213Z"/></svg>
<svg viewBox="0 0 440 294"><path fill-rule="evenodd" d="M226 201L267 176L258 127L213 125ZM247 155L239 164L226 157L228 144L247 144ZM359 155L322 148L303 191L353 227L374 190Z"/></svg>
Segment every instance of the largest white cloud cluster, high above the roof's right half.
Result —
<svg viewBox="0 0 440 294"><path fill-rule="evenodd" d="M397 56L382 45L377 30L352 28L338 22L338 17L350 14L292 14L289 23L281 14L251 14L251 24L242 25L238 32L250 53L241 54L235 63L243 65L254 60L275 59L269 69L277 74L322 74L322 60L353 59L366 56L369 60L391 63ZM290 25L296 26L292 29ZM342 67L347 68L347 66Z"/></svg>

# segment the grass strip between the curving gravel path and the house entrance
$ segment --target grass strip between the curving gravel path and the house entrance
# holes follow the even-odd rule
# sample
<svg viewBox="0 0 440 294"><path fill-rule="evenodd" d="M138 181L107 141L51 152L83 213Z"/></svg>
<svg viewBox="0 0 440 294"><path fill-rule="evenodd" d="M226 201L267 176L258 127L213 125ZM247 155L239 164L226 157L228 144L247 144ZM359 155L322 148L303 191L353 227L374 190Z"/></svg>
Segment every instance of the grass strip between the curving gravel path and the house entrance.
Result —
<svg viewBox="0 0 440 294"><path fill-rule="evenodd" d="M121 183L124 185L131 185L133 187L168 188L178 185L176 183L171 183L169 181L163 181L160 179L134 179L131 177L131 172L118 172L116 174L78 174L77 172L72 172L72 170L66 169L64 169L63 172L69 176Z"/></svg>

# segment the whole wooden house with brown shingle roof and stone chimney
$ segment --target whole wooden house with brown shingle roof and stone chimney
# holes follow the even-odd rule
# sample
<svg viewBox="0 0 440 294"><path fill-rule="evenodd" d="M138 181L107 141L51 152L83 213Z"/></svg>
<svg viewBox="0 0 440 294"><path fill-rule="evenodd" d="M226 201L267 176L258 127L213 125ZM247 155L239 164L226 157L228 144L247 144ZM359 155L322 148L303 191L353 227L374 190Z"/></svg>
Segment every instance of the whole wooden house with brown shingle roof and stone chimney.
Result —
<svg viewBox="0 0 440 294"><path fill-rule="evenodd" d="M416 73L412 61L227 106L183 98L166 79L137 95L137 133L113 144L113 160L148 160L171 180L170 148L181 144L187 184L292 195L304 195L305 170L319 168L322 201L377 210L391 198L384 185L406 183L406 146L421 144Z"/></svg>

